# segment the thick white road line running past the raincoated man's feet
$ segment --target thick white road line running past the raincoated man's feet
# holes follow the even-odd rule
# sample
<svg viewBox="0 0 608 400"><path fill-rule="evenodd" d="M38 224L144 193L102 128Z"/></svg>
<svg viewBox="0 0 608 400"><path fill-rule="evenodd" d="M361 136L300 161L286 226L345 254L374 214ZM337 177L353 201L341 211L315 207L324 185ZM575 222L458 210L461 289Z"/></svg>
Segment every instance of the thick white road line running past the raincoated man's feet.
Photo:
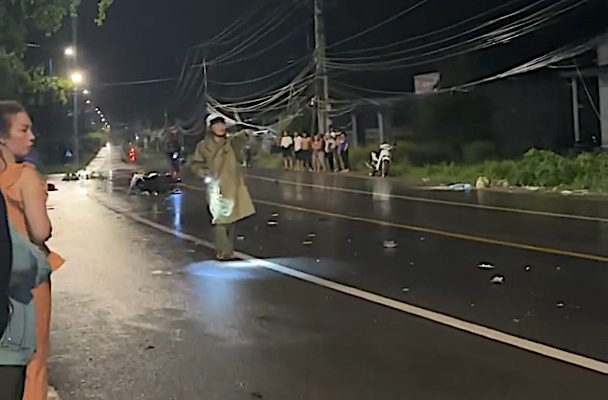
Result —
<svg viewBox="0 0 608 400"><path fill-rule="evenodd" d="M161 232L168 233L169 235L176 236L182 240L190 241L201 246L209 247L214 249L212 243L206 240L202 240L188 233L179 232L166 227L158 222L150 221L150 219L143 218L136 213L131 212L123 207L117 207L115 205L109 205L107 202L92 196L96 201L102 204L104 207L120 213L134 221L140 222L141 224L147 225L148 227L160 230ZM485 337L486 339L494 340L496 342L504 343L522 350L530 351L531 353L540 354L541 356L550 357L552 359L565 362L567 364L577 365L578 367L586 368L588 370L596 371L602 374L608 374L608 363L592 359L590 357L581 356L579 354L570 353L568 351L560 350L558 348L550 347L542 343L533 342L531 340L522 339L521 337L513 336L508 333L497 331L496 329L488 328L486 326L477 325L475 323L466 322L454 317L446 316L440 312L430 311L418 306L413 306L407 303L393 300L392 298L383 297L378 294L356 289L345 284L337 283L325 278L316 277L315 275L307 274L306 272L291 269L289 267L282 266L280 264L272 263L271 261L260 260L252 255L235 252L235 256L242 260L250 261L257 266L270 269L271 271L278 272L279 274L288 275L290 277L298 278L309 283L317 284L326 289L348 294L354 297L367 300L368 302L376 303L378 305L387 306L402 312L406 312L412 316L421 317L432 322L440 323L441 325L450 326L451 328L460 329L475 336Z"/></svg>

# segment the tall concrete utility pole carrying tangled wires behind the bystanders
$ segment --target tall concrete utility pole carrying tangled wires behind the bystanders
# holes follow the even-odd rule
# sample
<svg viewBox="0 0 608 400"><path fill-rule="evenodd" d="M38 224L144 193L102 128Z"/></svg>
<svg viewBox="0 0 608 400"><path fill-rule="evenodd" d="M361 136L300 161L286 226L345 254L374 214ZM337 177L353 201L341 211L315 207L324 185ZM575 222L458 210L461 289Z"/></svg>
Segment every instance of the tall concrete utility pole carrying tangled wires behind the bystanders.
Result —
<svg viewBox="0 0 608 400"><path fill-rule="evenodd" d="M327 133L329 123L329 82L327 78L327 64L325 58L325 26L323 24L323 0L314 0L314 61L317 121L319 133Z"/></svg>

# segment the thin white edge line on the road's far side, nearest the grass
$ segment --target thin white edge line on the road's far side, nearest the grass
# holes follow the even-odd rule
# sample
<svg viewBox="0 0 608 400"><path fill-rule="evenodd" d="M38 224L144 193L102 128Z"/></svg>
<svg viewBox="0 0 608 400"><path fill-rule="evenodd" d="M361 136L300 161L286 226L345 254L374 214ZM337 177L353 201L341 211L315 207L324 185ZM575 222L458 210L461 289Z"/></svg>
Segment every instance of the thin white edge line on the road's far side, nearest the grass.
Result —
<svg viewBox="0 0 608 400"><path fill-rule="evenodd" d="M246 177L252 178L252 179L258 179L260 181L278 182L280 184L286 184L286 185L342 191L344 193L354 193L356 195L368 195L368 196L374 195L373 192L368 191L368 190L349 189L349 188L344 188L344 187L333 187L333 186L317 185L317 184L306 184L303 182L286 181L285 179L266 178L265 176L257 176L257 175L246 175ZM581 221L608 222L608 218L602 218L602 217L596 217L596 216L562 214L562 213L553 213L553 212L548 212L548 211L535 211L535 210L525 210L525 209L513 209L511 207L500 207L498 205L471 204L471 203L465 203L465 202L459 202L459 201L429 199L429 198L416 197L416 196L405 196L405 195L394 195L394 194L382 194L379 196L382 196L385 198L393 198L393 199L406 200L406 201L417 201L417 202L430 203L430 204L453 205L455 207L468 207L469 209L482 209L482 210L510 212L510 213L518 213L518 214L541 215L541 216L550 216L553 218L579 219Z"/></svg>

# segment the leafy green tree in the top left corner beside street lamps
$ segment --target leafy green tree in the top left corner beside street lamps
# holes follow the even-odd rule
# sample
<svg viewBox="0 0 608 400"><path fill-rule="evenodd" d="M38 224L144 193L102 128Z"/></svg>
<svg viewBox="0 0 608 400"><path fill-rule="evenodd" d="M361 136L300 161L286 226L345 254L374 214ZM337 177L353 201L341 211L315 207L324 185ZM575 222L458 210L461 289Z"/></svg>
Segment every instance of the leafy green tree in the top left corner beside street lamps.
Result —
<svg viewBox="0 0 608 400"><path fill-rule="evenodd" d="M24 92L67 89L66 80L44 77L35 66L26 66L22 56L27 33L36 30L47 36L57 32L64 19L74 15L81 0L0 0L0 97L17 97ZM99 0L97 25L114 0Z"/></svg>

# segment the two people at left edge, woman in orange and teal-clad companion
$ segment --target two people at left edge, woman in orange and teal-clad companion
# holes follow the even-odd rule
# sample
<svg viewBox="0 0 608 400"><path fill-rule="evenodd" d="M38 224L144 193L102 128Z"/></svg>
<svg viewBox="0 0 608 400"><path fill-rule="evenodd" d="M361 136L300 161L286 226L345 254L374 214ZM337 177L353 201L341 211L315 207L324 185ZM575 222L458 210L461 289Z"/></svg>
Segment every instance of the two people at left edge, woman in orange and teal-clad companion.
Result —
<svg viewBox="0 0 608 400"><path fill-rule="evenodd" d="M47 184L24 162L35 137L19 103L0 100L0 399L46 400L51 235Z"/></svg>

